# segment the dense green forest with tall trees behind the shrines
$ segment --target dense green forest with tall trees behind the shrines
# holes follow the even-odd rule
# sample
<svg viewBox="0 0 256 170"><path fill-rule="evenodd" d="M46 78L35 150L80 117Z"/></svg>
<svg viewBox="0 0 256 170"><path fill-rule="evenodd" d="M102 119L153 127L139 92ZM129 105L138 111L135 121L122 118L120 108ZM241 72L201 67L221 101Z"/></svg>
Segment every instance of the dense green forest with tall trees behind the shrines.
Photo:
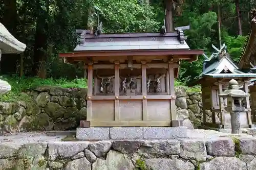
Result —
<svg viewBox="0 0 256 170"><path fill-rule="evenodd" d="M75 29L93 30L98 19L104 33L159 32L163 19L167 31L189 25L184 32L191 49L210 55L211 44L225 42L238 62L255 7L254 0L0 0L0 22L27 45L23 54L2 56L1 79L10 82L12 91L35 84L86 86L82 67L63 63L58 53L71 52L77 44ZM182 62L176 84L196 79L203 60Z"/></svg>

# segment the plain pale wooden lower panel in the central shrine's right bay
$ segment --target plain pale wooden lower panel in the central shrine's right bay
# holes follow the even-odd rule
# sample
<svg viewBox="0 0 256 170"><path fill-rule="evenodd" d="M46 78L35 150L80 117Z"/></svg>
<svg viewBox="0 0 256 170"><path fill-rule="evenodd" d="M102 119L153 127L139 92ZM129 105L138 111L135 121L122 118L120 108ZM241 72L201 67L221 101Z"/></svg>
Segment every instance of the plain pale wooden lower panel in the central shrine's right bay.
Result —
<svg viewBox="0 0 256 170"><path fill-rule="evenodd" d="M169 100L147 100L148 120L170 120Z"/></svg>

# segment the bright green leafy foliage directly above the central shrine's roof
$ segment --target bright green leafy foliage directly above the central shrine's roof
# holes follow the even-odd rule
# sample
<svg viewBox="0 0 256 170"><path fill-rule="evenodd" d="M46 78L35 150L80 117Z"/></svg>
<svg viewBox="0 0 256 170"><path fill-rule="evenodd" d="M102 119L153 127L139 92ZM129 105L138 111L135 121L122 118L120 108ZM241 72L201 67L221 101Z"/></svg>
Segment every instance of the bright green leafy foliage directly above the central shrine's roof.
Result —
<svg viewBox="0 0 256 170"><path fill-rule="evenodd" d="M137 0L98 0L96 6L105 32L154 32L159 29L160 22L155 19L154 8L137 4Z"/></svg>

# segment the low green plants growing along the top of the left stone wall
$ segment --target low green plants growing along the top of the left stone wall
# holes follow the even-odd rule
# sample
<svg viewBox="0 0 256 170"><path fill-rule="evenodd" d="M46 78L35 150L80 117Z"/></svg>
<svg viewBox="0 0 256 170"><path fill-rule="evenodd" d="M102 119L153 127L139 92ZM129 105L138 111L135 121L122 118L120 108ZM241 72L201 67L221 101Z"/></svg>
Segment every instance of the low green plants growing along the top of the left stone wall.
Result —
<svg viewBox="0 0 256 170"><path fill-rule="evenodd" d="M28 90L36 86L58 86L63 88L87 88L85 79L74 79L69 81L67 79L40 79L40 78L19 78L17 76L0 76L0 79L7 81L12 89L10 92L0 96L1 102L16 102L16 101L30 101L30 96L26 93Z"/></svg>

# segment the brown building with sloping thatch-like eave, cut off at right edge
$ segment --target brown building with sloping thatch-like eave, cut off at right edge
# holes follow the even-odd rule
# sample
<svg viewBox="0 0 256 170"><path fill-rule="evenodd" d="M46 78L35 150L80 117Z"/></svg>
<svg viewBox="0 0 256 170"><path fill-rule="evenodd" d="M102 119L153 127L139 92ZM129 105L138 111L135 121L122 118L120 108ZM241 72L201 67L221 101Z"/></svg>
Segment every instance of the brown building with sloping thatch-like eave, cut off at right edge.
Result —
<svg viewBox="0 0 256 170"><path fill-rule="evenodd" d="M246 72L256 72L256 10L251 11L251 16L251 31L243 55L238 63L239 68ZM251 110L253 122L256 122L256 79L251 79L250 82Z"/></svg>

